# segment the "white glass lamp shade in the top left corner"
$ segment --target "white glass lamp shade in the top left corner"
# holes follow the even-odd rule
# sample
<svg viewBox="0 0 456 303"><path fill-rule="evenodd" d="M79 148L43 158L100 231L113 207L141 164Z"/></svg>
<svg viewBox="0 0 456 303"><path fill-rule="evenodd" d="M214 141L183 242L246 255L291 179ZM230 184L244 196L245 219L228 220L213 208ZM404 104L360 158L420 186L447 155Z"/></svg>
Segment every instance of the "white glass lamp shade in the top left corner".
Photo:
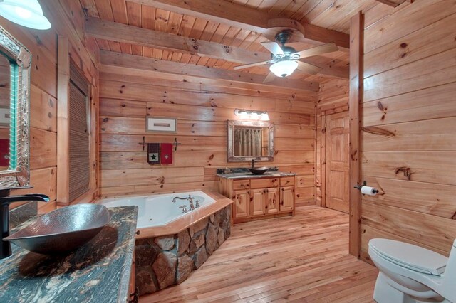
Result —
<svg viewBox="0 0 456 303"><path fill-rule="evenodd" d="M0 16L28 28L51 28L38 0L0 0Z"/></svg>

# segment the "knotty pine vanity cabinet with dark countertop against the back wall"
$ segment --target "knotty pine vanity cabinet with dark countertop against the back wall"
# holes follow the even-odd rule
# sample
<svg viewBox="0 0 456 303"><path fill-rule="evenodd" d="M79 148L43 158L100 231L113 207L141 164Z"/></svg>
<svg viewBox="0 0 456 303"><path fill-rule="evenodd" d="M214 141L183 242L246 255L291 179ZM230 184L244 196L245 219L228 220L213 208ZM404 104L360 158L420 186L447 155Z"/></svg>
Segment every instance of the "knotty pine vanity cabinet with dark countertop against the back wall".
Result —
<svg viewBox="0 0 456 303"><path fill-rule="evenodd" d="M276 216L294 216L294 173L217 174L219 193L232 199L234 223Z"/></svg>

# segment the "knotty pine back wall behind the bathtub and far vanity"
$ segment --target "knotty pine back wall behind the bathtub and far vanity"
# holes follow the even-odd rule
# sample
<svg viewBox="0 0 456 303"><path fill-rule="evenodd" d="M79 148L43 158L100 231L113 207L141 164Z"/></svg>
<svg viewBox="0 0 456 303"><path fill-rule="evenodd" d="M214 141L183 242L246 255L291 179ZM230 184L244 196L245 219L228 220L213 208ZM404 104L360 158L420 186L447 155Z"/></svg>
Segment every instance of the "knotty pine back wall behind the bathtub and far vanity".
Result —
<svg viewBox="0 0 456 303"><path fill-rule="evenodd" d="M294 171L296 202L315 203L316 92L291 92L216 80L163 80L126 76L113 67L100 73L100 193L217 191L217 168L227 163L227 119L235 108L267 110L275 124L275 159L259 165ZM140 71L138 71L140 73ZM175 117L177 134L145 132L145 117ZM182 143L172 165L147 164L145 142Z"/></svg>

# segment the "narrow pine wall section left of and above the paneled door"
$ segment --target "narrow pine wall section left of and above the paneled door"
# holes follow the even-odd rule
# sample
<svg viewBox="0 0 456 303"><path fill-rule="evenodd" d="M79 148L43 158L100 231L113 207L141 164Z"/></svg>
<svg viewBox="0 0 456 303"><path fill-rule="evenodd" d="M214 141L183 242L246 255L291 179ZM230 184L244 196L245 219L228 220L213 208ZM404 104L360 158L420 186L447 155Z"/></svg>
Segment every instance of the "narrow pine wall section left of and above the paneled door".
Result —
<svg viewBox="0 0 456 303"><path fill-rule="evenodd" d="M348 110L348 80L320 83L316 102L316 204L325 206L325 116Z"/></svg>

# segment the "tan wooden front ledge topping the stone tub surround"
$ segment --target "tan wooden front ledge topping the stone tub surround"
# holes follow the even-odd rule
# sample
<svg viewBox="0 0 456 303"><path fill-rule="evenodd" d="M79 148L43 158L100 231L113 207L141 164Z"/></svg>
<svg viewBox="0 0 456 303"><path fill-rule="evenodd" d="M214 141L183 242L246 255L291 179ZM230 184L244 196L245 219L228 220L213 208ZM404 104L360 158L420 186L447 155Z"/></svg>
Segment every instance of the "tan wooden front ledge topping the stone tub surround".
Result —
<svg viewBox="0 0 456 303"><path fill-rule="evenodd" d="M216 211L219 211L220 209L233 203L232 200L220 193L214 193L207 190L203 190L203 192L213 198L215 202L202 208L196 208L195 211L189 211L185 216L177 218L166 225L154 226L150 228L138 228L136 239L155 238L160 237L161 235L176 235L182 230L190 228L191 225L194 225L199 220L207 218L212 215L212 213L215 213Z"/></svg>

